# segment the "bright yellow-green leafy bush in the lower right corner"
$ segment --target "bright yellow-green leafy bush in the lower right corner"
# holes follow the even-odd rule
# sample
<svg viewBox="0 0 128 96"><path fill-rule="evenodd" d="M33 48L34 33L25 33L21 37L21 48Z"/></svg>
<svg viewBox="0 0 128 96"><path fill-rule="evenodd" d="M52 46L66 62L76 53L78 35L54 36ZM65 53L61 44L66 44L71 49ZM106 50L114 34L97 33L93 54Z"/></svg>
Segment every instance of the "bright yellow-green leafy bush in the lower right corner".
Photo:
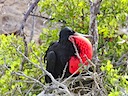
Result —
<svg viewBox="0 0 128 96"><path fill-rule="evenodd" d="M101 70L105 72L104 85L110 92L108 96L123 96L122 94L128 93L128 76L120 73L120 67L114 68L108 60L106 65L101 66Z"/></svg>

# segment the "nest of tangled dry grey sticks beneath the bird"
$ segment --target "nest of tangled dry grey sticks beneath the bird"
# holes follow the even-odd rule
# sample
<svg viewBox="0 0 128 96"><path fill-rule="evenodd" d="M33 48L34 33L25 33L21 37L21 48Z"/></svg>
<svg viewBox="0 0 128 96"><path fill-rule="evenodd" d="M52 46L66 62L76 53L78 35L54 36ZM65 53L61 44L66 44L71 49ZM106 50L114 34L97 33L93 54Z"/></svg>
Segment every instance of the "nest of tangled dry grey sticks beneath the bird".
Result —
<svg viewBox="0 0 128 96"><path fill-rule="evenodd" d="M66 85L71 96L107 96L102 80L101 73L89 72L71 77L66 79L66 81L60 80L60 83ZM70 96L64 88L55 83L47 86L47 89L43 91L43 96Z"/></svg>

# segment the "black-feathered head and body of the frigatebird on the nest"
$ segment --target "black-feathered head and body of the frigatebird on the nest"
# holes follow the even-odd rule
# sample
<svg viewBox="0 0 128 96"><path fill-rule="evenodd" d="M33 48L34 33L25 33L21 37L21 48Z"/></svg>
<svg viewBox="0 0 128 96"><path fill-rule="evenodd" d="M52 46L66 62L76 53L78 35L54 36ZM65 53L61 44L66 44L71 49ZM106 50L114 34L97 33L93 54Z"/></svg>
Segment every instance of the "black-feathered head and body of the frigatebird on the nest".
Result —
<svg viewBox="0 0 128 96"><path fill-rule="evenodd" d="M46 54L44 56L44 62L45 60L47 60L46 70L50 72L55 79L60 78L62 76L65 65L67 63L70 63L69 62L70 59L72 59L71 61L72 64L71 66L68 64L66 68L66 72L64 74L64 78L70 76L74 72L74 69L71 70L72 72L70 72L71 68L69 67L74 66L73 64L75 64L75 67L76 65L78 67L78 64L74 63L75 61L74 58L76 58L75 49L74 49L73 43L69 40L69 36L76 36L76 35L78 35L78 33L74 32L71 28L69 27L63 28L59 33L59 41L52 43L46 51ZM76 40L76 41L79 43L79 40ZM87 40L87 42L89 41ZM83 43L79 43L79 44L83 46ZM90 44L89 46L91 46L91 43L89 44ZM85 45L85 47L87 47L87 45ZM84 47L81 47L81 48L84 48ZM91 57L92 57L92 54L88 58L91 58ZM76 60L76 62L77 61L78 60ZM51 83L50 77L46 75L45 81L46 83Z"/></svg>

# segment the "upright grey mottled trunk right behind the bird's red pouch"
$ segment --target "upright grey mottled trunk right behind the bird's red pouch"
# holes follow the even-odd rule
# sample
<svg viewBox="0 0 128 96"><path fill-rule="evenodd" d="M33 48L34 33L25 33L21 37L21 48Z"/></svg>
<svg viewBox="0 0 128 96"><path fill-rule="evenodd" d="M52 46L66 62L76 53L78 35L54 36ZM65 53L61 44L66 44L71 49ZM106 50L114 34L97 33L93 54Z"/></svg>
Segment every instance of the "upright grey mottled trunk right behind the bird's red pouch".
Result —
<svg viewBox="0 0 128 96"><path fill-rule="evenodd" d="M90 25L89 25L89 34L92 35L92 45L93 45L93 62L94 64L98 63L98 29L97 29L97 15L100 13L100 4L102 0L90 0Z"/></svg>

